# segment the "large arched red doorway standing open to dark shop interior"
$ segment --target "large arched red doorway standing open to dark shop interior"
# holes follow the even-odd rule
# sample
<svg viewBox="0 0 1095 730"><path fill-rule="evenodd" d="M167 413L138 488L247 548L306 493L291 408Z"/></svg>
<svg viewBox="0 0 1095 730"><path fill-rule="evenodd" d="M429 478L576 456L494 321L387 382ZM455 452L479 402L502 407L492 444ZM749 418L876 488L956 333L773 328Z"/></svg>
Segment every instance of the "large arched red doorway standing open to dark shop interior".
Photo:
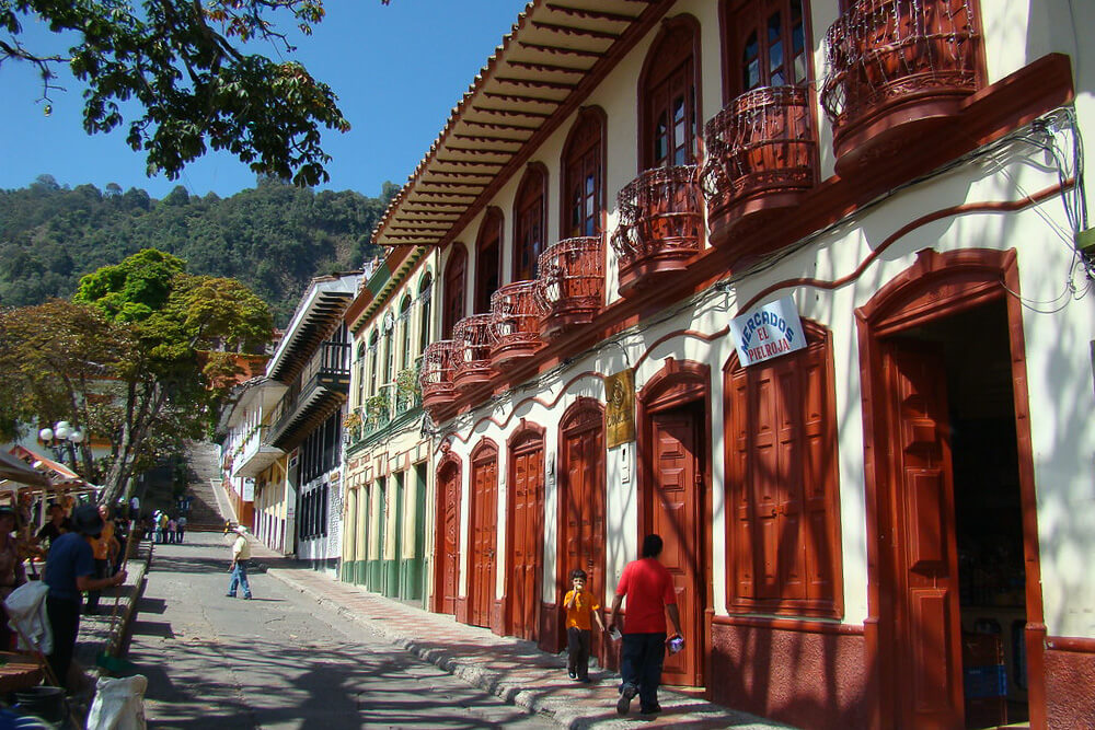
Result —
<svg viewBox="0 0 1095 730"><path fill-rule="evenodd" d="M878 727L1045 725L1018 288L1014 251L922 251L856 311Z"/></svg>

